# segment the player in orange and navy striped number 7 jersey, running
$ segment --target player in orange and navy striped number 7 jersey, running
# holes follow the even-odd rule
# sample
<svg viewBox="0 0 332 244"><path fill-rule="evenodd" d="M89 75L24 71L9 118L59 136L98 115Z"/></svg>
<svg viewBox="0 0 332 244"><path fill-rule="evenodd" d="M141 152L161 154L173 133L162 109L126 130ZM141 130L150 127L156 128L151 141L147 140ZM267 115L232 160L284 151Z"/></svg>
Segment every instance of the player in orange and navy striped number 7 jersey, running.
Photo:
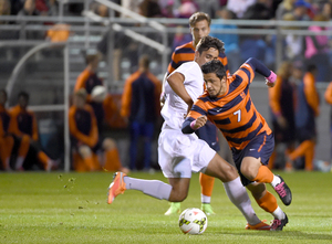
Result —
<svg viewBox="0 0 332 244"><path fill-rule="evenodd" d="M193 134L207 119L212 121L228 141L242 184L251 191L258 205L274 216L271 230L281 231L288 216L267 191L266 183L273 187L286 205L291 203L292 194L283 179L267 167L274 138L249 94L255 73L267 77L270 87L274 86L277 75L256 59L249 59L229 77L220 61L204 64L201 71L206 92L195 102L181 131Z"/></svg>

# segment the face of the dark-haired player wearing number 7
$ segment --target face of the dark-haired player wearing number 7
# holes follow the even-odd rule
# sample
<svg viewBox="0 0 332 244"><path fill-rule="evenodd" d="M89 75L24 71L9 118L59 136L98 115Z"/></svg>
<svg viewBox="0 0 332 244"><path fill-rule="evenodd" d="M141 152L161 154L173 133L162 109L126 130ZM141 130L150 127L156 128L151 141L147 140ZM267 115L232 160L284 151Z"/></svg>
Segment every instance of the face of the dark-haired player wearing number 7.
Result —
<svg viewBox="0 0 332 244"><path fill-rule="evenodd" d="M210 97L224 95L227 91L226 76L220 79L215 73L203 74Z"/></svg>

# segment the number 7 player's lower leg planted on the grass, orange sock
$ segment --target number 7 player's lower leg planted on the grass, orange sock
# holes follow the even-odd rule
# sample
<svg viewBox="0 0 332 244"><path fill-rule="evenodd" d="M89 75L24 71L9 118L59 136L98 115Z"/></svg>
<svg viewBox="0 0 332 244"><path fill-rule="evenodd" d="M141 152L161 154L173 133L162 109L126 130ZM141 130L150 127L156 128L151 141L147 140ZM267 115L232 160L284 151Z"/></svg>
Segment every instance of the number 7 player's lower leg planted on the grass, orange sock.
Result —
<svg viewBox="0 0 332 244"><path fill-rule="evenodd" d="M258 205L274 216L271 230L281 231L288 223L286 213L280 209L277 199L267 189L264 183L252 182L247 185Z"/></svg>

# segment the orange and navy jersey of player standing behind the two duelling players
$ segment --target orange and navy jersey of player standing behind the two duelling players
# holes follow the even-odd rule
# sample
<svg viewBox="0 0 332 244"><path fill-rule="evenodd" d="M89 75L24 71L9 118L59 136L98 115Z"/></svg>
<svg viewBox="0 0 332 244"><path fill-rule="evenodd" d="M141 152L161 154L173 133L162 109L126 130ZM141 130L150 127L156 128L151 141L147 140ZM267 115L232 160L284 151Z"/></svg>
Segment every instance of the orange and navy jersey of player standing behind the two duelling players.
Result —
<svg viewBox="0 0 332 244"><path fill-rule="evenodd" d="M172 61L167 68L168 74L170 74L176 68L178 68L183 63L194 61L194 57L195 57L195 47L193 45L193 42L188 42L184 45L176 47L172 54ZM229 75L228 61L225 53L219 54L219 60L221 61L221 63L226 68L226 74Z"/></svg>

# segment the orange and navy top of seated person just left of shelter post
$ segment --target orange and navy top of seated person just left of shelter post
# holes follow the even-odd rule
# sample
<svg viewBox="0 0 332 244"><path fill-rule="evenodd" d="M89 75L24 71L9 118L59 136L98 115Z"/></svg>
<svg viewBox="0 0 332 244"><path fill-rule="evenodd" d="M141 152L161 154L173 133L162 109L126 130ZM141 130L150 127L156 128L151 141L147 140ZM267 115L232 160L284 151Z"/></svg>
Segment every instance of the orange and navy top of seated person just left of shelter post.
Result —
<svg viewBox="0 0 332 244"><path fill-rule="evenodd" d="M33 140L39 139L38 125L34 113L31 110L23 110L19 105L10 109L11 121L9 125L9 132L18 137L29 135Z"/></svg>

